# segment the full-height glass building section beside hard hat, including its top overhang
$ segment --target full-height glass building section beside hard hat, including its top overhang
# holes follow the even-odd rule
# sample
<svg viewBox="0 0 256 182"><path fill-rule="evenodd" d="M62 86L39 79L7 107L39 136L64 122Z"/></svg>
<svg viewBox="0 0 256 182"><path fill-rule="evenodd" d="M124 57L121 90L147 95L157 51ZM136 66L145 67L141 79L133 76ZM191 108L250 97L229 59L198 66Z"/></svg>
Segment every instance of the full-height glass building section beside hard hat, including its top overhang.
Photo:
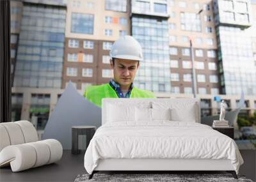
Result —
<svg viewBox="0 0 256 182"><path fill-rule="evenodd" d="M167 7L167 1L131 1L131 34L144 57L134 80L140 89L171 91Z"/></svg>

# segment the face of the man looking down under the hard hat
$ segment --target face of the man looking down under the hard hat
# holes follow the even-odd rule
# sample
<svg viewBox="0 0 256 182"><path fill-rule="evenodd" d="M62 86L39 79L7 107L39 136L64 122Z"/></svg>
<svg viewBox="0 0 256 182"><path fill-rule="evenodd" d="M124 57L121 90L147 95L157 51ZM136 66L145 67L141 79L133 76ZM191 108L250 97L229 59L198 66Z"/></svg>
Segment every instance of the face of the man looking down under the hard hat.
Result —
<svg viewBox="0 0 256 182"><path fill-rule="evenodd" d="M139 67L138 62L115 58L115 65L113 65L113 61L110 61L110 66L114 72L114 79L120 86L131 85Z"/></svg>

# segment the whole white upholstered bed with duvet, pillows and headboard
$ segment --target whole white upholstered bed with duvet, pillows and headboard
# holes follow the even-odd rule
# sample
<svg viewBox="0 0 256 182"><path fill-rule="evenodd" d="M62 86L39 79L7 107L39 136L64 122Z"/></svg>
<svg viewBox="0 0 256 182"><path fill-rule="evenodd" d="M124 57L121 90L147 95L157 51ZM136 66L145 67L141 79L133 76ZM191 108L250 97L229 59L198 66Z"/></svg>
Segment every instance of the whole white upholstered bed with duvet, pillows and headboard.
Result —
<svg viewBox="0 0 256 182"><path fill-rule="evenodd" d="M230 137L200 124L199 98L102 100L102 126L84 155L99 171L227 171L243 158Z"/></svg>

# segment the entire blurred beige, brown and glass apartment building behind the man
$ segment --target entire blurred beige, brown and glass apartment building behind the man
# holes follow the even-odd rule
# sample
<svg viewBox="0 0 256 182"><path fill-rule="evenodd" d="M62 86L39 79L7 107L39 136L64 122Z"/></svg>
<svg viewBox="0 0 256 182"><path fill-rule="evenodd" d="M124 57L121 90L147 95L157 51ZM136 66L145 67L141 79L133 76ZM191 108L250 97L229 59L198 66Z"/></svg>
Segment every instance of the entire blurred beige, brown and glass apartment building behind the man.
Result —
<svg viewBox="0 0 256 182"><path fill-rule="evenodd" d="M241 91L252 114L255 12L255 0L12 0L12 118L36 119L42 130L67 82L81 94L109 82L109 50L125 34L143 49L137 87L192 97L191 40L201 115L219 112L220 93L236 108Z"/></svg>

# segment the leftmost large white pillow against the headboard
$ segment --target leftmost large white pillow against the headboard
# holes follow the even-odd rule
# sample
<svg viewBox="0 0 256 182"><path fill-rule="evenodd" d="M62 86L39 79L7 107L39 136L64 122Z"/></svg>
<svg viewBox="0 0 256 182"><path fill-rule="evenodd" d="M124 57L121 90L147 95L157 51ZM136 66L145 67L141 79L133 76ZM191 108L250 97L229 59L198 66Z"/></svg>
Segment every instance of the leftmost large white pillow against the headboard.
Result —
<svg viewBox="0 0 256 182"><path fill-rule="evenodd" d="M135 107L108 104L107 122L135 121Z"/></svg>

